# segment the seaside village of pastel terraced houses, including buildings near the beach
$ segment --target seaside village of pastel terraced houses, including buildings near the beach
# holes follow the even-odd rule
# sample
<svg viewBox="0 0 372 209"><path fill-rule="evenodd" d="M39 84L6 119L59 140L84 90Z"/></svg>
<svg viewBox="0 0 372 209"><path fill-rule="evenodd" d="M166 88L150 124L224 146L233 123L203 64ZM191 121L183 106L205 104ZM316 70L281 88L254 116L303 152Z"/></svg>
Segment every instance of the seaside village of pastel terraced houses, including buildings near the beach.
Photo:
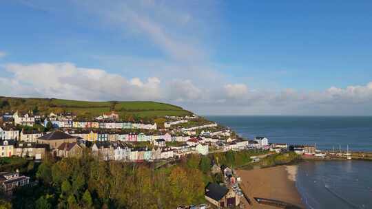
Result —
<svg viewBox="0 0 372 209"><path fill-rule="evenodd" d="M18 156L41 161L47 155L79 157L84 151L90 151L105 161L170 162L192 153L207 155L251 148L280 152L288 148L287 144L269 144L266 137L243 140L231 129L214 122L195 126L192 121L198 120L198 115L165 118L164 124L159 125L123 122L115 112L99 115L90 121L77 120L72 113L4 113L0 118L0 157ZM28 129L35 124L49 131L43 133L39 129ZM316 152L314 146L296 146L295 151ZM209 184L205 188L205 199L218 208L238 206L243 197L238 187L240 178L230 168L216 164L212 166L212 172L223 173L226 184ZM17 170L0 173L0 186L6 191L27 184L31 184L30 178Z"/></svg>

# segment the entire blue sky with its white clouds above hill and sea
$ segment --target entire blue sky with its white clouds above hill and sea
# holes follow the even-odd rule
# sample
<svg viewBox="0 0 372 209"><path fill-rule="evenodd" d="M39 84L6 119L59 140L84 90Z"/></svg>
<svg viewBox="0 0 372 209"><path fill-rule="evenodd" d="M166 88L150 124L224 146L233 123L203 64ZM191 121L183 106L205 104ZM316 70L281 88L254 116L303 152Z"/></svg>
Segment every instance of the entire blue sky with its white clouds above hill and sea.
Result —
<svg viewBox="0 0 372 209"><path fill-rule="evenodd" d="M371 115L371 10L371 1L1 1L0 94Z"/></svg>

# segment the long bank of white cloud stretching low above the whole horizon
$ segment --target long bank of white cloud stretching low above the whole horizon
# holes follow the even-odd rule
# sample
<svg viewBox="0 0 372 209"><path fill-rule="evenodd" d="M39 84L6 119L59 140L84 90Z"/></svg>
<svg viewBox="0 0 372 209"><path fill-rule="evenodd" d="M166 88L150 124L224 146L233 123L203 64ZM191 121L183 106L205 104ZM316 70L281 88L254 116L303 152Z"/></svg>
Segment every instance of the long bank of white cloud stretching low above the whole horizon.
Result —
<svg viewBox="0 0 372 209"><path fill-rule="evenodd" d="M159 100L204 113L346 114L372 113L372 82L324 91L249 90L241 83L205 87L194 80L125 78L103 69L72 63L4 65L3 96L35 96L76 100ZM176 75L177 76L177 75ZM345 109L349 110L345 112ZM213 111L213 112L212 112Z"/></svg>

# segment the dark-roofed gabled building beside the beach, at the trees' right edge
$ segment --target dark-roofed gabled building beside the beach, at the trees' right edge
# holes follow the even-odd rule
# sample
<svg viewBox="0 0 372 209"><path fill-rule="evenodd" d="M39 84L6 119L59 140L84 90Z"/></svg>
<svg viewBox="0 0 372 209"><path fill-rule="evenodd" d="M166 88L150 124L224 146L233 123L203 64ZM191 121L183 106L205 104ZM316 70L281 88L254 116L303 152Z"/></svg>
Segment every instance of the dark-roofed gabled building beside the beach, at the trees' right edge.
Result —
<svg viewBox="0 0 372 209"><path fill-rule="evenodd" d="M240 197L234 190L216 183L209 183L205 188L205 199L218 208L234 207L240 203Z"/></svg>

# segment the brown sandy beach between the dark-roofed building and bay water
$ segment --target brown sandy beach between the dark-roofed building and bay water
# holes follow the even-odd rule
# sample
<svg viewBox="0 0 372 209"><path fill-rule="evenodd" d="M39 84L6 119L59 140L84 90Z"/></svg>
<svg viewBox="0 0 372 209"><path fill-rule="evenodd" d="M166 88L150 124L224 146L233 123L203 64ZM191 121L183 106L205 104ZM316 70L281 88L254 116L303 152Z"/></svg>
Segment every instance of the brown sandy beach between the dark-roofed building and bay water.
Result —
<svg viewBox="0 0 372 209"><path fill-rule="evenodd" d="M297 166L237 170L237 173L241 177L240 188L252 202L247 208L276 208L261 205L253 197L277 199L304 208L295 185Z"/></svg>

